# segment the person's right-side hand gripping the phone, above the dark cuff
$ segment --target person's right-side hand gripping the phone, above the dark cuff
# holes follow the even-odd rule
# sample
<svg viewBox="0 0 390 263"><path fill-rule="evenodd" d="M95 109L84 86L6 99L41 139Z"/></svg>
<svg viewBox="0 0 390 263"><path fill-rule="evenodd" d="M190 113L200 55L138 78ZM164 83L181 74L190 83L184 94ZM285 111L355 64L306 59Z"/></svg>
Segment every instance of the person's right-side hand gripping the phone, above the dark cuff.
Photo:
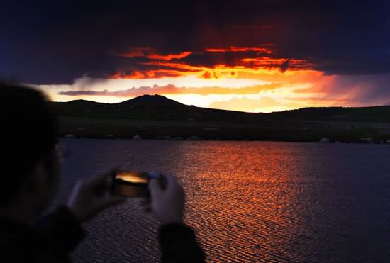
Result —
<svg viewBox="0 0 390 263"><path fill-rule="evenodd" d="M159 179L150 179L150 210L162 225L182 223L184 213L184 191L177 179L164 175L165 189L160 186Z"/></svg>

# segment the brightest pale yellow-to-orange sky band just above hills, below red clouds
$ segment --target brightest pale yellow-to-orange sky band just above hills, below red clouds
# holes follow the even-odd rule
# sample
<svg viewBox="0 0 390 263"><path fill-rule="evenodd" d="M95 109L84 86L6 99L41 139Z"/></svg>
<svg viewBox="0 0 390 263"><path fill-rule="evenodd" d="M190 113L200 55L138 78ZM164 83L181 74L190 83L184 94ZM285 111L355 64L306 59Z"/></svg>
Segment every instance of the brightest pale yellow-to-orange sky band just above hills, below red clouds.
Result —
<svg viewBox="0 0 390 263"><path fill-rule="evenodd" d="M318 96L317 85L326 85L331 78L316 71L286 71L266 69L238 70L237 78L225 77L227 69L221 65L222 77L204 78L199 74L157 79L89 79L83 77L70 85L40 85L54 101L87 99L104 103L118 103L142 94L160 94L186 105L221 108L234 111L271 112L304 106L331 106L333 101L313 101ZM240 71L241 70L241 71ZM245 74L243 74L245 73ZM242 78L240 78L240 76ZM310 89L313 88L313 91ZM308 91L306 91L309 89ZM66 92L75 91L73 96ZM84 94L81 91L84 92ZM65 92L65 94L60 94ZM94 93L95 92L95 93ZM321 104L320 104L321 103Z"/></svg>

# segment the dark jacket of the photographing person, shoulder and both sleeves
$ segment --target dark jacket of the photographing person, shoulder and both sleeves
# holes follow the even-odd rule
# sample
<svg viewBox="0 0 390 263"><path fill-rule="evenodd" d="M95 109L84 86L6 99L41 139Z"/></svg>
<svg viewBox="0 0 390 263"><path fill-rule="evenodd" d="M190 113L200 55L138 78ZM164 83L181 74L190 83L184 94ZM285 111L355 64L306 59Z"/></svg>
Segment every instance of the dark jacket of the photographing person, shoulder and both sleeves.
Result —
<svg viewBox="0 0 390 263"><path fill-rule="evenodd" d="M70 262L69 252L83 237L79 221L65 206L45 216L37 228L0 218L0 262ZM204 252L188 226L166 225L158 238L162 262L204 262Z"/></svg>

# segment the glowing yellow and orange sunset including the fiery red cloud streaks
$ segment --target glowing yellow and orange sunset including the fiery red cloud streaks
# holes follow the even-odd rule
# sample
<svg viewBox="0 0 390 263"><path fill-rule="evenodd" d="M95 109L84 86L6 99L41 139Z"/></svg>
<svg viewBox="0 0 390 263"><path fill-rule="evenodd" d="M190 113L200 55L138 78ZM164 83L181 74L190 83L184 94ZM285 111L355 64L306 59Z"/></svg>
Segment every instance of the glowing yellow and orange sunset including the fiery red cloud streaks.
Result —
<svg viewBox="0 0 390 263"><path fill-rule="evenodd" d="M117 70L105 79L84 76L69 85L40 85L55 101L87 99L118 103L143 94L160 94L187 105L234 111L269 112L304 106L330 106L319 85L332 82L303 59L275 57L274 46L209 47L201 52L157 52L134 47L113 54L133 61L136 69ZM193 56L217 56L196 65ZM234 56L233 56L234 55ZM230 56L230 61L226 59Z"/></svg>

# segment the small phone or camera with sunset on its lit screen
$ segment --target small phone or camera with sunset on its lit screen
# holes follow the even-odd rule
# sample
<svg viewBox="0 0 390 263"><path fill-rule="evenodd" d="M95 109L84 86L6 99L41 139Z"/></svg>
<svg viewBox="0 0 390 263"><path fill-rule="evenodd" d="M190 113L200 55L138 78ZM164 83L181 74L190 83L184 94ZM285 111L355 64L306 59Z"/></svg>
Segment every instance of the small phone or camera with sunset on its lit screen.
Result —
<svg viewBox="0 0 390 263"><path fill-rule="evenodd" d="M112 194L128 197L148 198L150 179L158 179L162 186L162 176L155 172L117 171L113 175Z"/></svg>

